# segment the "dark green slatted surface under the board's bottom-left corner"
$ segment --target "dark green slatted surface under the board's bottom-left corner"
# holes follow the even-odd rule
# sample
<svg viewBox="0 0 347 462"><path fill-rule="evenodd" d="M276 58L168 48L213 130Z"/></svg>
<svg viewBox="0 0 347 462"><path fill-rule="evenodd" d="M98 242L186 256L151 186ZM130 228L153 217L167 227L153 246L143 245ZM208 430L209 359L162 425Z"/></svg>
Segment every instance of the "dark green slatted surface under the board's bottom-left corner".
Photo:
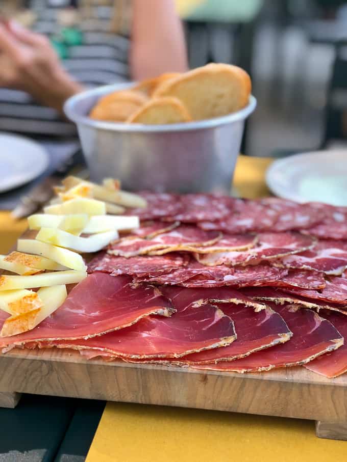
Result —
<svg viewBox="0 0 347 462"><path fill-rule="evenodd" d="M0 462L81 462L105 402L22 395L15 409L0 408Z"/></svg>

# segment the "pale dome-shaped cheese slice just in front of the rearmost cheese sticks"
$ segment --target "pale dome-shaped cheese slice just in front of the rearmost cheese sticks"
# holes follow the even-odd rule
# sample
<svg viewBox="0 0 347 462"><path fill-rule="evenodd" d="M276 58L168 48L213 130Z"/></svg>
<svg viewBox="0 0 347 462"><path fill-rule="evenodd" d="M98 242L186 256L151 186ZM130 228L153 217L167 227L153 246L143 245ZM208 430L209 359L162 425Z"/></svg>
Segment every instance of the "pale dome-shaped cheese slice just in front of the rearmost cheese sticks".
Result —
<svg viewBox="0 0 347 462"><path fill-rule="evenodd" d="M77 198L70 199L62 204L48 205L43 209L44 213L55 215L68 215L74 213L86 213L87 215L105 215L106 205L95 199Z"/></svg>

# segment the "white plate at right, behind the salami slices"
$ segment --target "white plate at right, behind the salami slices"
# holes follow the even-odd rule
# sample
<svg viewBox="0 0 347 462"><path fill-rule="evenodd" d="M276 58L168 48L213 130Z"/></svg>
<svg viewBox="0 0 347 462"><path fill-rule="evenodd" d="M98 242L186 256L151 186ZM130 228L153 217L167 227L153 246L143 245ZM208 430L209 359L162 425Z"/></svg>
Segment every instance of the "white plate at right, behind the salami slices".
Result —
<svg viewBox="0 0 347 462"><path fill-rule="evenodd" d="M347 206L347 150L275 160L266 172L266 183L272 193L285 199Z"/></svg>

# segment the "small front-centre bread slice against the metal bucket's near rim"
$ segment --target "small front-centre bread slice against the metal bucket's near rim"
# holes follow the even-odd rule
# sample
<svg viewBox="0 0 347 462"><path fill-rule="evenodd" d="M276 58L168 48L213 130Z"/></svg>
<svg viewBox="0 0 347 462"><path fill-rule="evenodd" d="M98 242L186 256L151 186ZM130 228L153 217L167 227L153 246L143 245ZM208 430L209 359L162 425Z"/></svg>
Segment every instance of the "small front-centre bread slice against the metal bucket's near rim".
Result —
<svg viewBox="0 0 347 462"><path fill-rule="evenodd" d="M189 122L190 120L189 113L179 99L164 97L148 101L135 114L132 114L127 122L160 125Z"/></svg>

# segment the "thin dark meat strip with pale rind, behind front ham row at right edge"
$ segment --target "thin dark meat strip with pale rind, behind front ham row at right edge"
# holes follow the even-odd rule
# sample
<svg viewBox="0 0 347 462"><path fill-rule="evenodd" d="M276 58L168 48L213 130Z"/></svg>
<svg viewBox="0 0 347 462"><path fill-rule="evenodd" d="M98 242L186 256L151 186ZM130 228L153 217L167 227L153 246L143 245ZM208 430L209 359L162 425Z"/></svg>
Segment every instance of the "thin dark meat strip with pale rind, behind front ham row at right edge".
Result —
<svg viewBox="0 0 347 462"><path fill-rule="evenodd" d="M287 289L286 289L287 290ZM298 294L291 294L287 291L272 288L272 287L246 287L242 289L242 293L262 302L275 302L283 305L285 303L310 308L316 311L327 309L332 311L339 311L340 313L347 314L347 306L327 304L319 300L312 300L312 298L305 298Z"/></svg>

